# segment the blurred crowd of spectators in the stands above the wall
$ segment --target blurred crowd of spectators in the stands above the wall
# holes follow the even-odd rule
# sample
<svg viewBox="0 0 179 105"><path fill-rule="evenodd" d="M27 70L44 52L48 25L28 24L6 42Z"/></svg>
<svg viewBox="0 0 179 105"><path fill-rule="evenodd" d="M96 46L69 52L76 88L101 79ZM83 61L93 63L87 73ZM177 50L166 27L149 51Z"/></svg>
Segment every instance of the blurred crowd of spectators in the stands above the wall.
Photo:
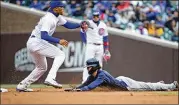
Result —
<svg viewBox="0 0 179 105"><path fill-rule="evenodd" d="M47 11L51 0L3 0L21 6ZM65 0L66 16L91 19L100 11L108 26L145 36L179 41L178 1L171 0Z"/></svg>

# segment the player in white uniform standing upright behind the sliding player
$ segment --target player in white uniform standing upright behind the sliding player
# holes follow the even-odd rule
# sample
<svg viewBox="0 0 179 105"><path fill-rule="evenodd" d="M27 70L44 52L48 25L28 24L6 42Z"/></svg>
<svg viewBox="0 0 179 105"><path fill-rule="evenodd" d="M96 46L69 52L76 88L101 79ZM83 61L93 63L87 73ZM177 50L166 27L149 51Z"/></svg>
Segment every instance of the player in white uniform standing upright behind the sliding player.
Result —
<svg viewBox="0 0 179 105"><path fill-rule="evenodd" d="M89 58L95 57L99 60L102 67L103 58L105 61L109 60L111 55L109 52L109 41L107 26L99 19L99 12L93 12L93 19L86 20L81 23L82 41L86 43L85 62ZM83 81L88 78L88 71L83 70Z"/></svg>

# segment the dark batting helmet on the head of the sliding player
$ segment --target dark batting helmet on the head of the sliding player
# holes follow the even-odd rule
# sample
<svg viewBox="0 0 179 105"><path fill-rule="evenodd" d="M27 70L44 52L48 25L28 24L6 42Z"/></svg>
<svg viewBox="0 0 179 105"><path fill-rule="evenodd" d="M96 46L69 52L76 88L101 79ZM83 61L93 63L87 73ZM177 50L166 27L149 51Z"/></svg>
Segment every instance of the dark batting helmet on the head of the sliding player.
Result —
<svg viewBox="0 0 179 105"><path fill-rule="evenodd" d="M87 69L90 68L90 70L88 69L89 75L93 74L95 71L97 71L98 69L101 68L99 61L96 58L88 59L86 61L86 67L87 67Z"/></svg>

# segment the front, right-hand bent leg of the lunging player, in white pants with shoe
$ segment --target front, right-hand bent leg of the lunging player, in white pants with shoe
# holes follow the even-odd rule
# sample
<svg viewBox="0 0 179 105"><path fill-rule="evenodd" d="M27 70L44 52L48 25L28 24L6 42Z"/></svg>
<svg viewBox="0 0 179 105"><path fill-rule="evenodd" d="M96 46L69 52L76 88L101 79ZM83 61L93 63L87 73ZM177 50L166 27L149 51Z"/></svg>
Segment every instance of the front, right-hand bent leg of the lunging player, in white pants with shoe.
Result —
<svg viewBox="0 0 179 105"><path fill-rule="evenodd" d="M59 67L62 65L65 59L65 54L58 47L48 43L47 41L40 40L37 38L31 38L27 42L27 47L32 52L37 52L39 55L45 57L54 58L52 67L49 74L45 80L45 84L51 85L53 87L61 88L62 85L57 83L55 78Z"/></svg>

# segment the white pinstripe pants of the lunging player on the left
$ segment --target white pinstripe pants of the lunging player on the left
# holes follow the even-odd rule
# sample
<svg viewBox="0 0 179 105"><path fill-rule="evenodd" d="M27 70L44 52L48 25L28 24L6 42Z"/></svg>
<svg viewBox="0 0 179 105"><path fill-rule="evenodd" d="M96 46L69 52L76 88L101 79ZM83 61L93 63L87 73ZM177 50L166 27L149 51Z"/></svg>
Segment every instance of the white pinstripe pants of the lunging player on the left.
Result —
<svg viewBox="0 0 179 105"><path fill-rule="evenodd" d="M57 71L65 59L65 54L58 47L38 38L29 38L27 49L30 52L34 62L35 69L21 83L31 84L37 81L47 71L46 57L54 58L52 67L46 80L56 78Z"/></svg>

